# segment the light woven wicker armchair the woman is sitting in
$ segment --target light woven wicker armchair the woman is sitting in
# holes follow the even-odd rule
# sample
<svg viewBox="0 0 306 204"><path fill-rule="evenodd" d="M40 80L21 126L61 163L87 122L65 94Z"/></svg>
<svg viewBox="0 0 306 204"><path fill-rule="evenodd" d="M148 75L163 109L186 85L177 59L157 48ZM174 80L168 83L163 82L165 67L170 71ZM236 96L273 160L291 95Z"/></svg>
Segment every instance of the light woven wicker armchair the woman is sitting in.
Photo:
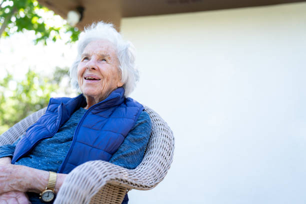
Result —
<svg viewBox="0 0 306 204"><path fill-rule="evenodd" d="M34 112L1 134L0 145L14 142L45 110ZM152 130L141 163L129 170L107 161L87 161L66 176L54 203L120 204L128 190L149 190L164 178L173 159L173 133L155 111L146 106L145 111Z"/></svg>

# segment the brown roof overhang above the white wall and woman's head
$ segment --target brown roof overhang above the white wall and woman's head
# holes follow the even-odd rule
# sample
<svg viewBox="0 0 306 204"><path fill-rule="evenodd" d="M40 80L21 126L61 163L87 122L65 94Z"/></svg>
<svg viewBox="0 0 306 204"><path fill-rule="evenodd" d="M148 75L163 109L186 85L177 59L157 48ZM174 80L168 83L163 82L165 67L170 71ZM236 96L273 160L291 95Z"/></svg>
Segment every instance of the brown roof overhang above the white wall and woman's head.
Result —
<svg viewBox="0 0 306 204"><path fill-rule="evenodd" d="M217 10L248 6L300 2L305 0L38 0L40 4L66 18L69 10L84 7L83 18L76 24L82 29L93 21L112 22L121 17Z"/></svg>

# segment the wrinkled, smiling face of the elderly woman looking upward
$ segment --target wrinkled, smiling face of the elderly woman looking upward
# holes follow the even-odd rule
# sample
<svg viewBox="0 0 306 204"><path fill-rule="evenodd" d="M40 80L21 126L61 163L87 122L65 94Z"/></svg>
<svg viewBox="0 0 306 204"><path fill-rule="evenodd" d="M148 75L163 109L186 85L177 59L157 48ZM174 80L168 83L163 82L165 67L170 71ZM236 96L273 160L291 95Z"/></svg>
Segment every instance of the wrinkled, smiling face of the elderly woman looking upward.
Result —
<svg viewBox="0 0 306 204"><path fill-rule="evenodd" d="M122 86L114 46L108 40L91 41L77 66L77 80L86 98L101 101L116 87Z"/></svg>

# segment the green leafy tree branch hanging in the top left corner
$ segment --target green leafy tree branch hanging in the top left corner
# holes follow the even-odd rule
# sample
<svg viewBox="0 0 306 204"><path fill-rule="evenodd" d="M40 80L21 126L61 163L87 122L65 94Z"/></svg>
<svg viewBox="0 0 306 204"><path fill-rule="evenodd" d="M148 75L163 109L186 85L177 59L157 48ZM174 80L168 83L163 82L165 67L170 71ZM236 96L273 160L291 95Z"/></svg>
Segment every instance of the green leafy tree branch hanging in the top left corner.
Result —
<svg viewBox="0 0 306 204"><path fill-rule="evenodd" d="M79 30L68 24L56 27L50 26L45 21L43 13L52 12L38 4L36 0L0 0L0 37L9 36L14 32L24 30L35 31L35 42L42 41L46 44L47 39L56 41L62 33L70 33L70 40L78 39ZM54 14L52 14L54 17Z"/></svg>

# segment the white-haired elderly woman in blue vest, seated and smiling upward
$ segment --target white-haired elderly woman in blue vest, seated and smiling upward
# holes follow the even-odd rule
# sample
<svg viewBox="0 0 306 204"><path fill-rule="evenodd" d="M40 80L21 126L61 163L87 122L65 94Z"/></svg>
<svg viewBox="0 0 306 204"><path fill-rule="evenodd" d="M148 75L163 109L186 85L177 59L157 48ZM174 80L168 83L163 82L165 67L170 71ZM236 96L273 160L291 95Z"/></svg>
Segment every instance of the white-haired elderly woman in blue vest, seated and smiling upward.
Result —
<svg viewBox="0 0 306 204"><path fill-rule="evenodd" d="M138 79L132 50L111 24L81 33L70 77L82 93L51 98L23 136L0 146L0 203L52 202L66 174L89 160L129 169L140 163L151 121L127 97Z"/></svg>

